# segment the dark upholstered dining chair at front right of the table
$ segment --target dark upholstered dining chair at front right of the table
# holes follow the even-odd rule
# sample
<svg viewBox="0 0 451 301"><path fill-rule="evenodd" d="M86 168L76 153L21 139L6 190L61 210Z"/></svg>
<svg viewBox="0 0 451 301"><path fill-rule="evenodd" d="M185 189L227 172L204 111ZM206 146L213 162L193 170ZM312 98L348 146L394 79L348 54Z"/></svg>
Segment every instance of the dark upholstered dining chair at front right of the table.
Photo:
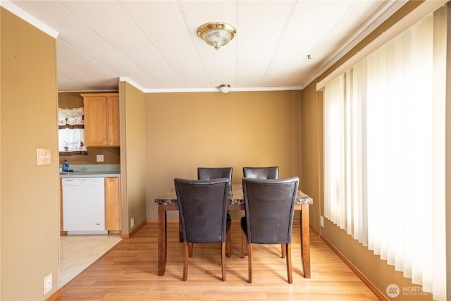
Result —
<svg viewBox="0 0 451 301"><path fill-rule="evenodd" d="M241 219L242 240L247 241L249 283L252 283L252 244L282 244L292 283L291 236L299 178L242 178L246 215ZM242 245L245 245L242 243ZM244 247L242 256L244 257Z"/></svg>

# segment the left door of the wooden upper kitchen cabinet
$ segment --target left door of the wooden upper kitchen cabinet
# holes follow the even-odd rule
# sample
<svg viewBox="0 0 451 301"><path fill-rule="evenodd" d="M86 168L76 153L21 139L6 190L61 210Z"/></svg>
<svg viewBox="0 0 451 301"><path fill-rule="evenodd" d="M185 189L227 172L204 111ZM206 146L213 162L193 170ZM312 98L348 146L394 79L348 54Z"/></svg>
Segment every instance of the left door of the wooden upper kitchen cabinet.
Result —
<svg viewBox="0 0 451 301"><path fill-rule="evenodd" d="M83 97L85 140L87 147L107 145L106 97Z"/></svg>

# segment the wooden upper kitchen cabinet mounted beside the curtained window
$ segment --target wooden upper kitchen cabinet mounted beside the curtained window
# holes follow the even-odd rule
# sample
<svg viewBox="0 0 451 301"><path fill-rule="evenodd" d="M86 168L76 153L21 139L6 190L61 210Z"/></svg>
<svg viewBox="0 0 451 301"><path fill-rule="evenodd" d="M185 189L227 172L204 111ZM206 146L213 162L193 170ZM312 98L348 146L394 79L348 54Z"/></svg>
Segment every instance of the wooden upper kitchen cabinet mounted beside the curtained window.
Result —
<svg viewBox="0 0 451 301"><path fill-rule="evenodd" d="M80 94L85 114L85 144L87 147L118 147L119 94Z"/></svg>

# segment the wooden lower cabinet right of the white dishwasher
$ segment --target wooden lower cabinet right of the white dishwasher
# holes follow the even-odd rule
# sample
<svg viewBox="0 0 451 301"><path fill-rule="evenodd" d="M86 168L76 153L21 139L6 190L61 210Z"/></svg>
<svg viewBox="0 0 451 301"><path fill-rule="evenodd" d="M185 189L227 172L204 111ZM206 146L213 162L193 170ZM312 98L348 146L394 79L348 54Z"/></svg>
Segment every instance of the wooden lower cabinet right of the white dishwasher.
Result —
<svg viewBox="0 0 451 301"><path fill-rule="evenodd" d="M105 178L105 229L121 232L121 182L120 178Z"/></svg>

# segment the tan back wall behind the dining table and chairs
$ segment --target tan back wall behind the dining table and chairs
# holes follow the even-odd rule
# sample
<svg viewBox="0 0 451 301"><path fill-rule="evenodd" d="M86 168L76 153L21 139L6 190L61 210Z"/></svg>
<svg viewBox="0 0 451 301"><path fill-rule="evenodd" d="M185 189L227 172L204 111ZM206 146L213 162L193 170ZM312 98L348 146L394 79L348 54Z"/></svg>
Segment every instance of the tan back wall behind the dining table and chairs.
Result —
<svg viewBox="0 0 451 301"><path fill-rule="evenodd" d="M174 178L197 178L199 166L231 166L236 184L243 166L300 176L299 110L299 91L146 94L147 219Z"/></svg>

